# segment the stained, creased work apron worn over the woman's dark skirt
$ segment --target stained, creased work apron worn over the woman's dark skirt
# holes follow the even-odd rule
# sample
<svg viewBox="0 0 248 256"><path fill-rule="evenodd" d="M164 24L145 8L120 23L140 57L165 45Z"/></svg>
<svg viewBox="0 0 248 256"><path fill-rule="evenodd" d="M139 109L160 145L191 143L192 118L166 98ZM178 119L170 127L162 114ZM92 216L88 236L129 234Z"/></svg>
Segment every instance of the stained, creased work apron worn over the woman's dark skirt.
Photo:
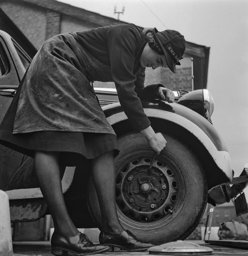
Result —
<svg viewBox="0 0 248 256"><path fill-rule="evenodd" d="M70 131L115 134L90 82L113 81L76 33L48 39L22 81L13 134Z"/></svg>

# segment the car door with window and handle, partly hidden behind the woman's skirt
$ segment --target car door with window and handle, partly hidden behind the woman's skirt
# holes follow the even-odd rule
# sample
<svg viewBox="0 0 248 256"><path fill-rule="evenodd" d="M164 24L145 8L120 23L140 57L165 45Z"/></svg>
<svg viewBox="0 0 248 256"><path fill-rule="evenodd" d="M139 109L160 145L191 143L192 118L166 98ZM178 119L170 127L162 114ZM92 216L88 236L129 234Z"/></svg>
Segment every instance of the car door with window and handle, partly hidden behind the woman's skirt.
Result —
<svg viewBox="0 0 248 256"><path fill-rule="evenodd" d="M0 31L0 122L30 60L7 33ZM0 145L0 189L5 190L24 158L23 154Z"/></svg>

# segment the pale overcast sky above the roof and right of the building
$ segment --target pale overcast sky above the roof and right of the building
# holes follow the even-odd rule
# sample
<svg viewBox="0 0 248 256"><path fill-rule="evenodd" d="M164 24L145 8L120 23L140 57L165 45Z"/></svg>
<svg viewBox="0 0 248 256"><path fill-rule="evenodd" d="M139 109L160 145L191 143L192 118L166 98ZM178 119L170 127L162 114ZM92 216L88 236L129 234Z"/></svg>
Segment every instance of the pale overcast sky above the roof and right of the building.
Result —
<svg viewBox="0 0 248 256"><path fill-rule="evenodd" d="M212 121L231 156L235 176L248 163L247 0L61 0L143 27L178 30L186 41L210 47L207 89ZM166 85L165 85L166 86Z"/></svg>

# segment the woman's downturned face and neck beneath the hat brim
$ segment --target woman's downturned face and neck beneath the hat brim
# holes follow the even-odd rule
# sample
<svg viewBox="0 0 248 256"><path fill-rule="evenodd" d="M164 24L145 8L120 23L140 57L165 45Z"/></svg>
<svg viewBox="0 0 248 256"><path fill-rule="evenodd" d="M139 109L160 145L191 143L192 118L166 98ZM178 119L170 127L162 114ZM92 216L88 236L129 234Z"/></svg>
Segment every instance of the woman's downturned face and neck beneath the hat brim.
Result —
<svg viewBox="0 0 248 256"><path fill-rule="evenodd" d="M148 44L146 44L141 54L139 63L141 67L149 67L152 69L158 67L168 67L164 55L160 55L156 51L152 50Z"/></svg>

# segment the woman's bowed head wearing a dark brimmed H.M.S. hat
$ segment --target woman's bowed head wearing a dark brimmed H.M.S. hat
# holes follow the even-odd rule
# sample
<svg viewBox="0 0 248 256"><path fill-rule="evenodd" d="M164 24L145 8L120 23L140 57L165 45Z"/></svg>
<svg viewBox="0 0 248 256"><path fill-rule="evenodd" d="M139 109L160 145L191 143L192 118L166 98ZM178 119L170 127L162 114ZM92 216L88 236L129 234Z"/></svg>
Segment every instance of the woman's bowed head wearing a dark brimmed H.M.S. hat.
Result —
<svg viewBox="0 0 248 256"><path fill-rule="evenodd" d="M159 32L156 28L145 28L143 34L147 45L141 54L140 65L153 69L169 67L175 73L175 65L180 65L179 60L182 59L186 47L184 37L175 30Z"/></svg>

